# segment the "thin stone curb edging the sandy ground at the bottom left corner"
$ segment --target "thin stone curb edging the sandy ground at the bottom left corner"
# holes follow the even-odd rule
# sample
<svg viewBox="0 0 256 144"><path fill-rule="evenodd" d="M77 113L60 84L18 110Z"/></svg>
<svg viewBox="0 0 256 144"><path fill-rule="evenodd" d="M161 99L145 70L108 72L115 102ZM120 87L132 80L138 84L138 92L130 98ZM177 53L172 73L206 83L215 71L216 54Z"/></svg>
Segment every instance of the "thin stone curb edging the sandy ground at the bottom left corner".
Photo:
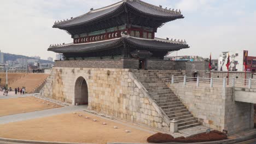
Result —
<svg viewBox="0 0 256 144"><path fill-rule="evenodd" d="M50 142L50 141L31 141L31 140L17 140L17 139L5 139L0 137L1 141L4 142L18 142L18 143L39 143L39 144L94 144L94 143L70 143L70 142Z"/></svg>

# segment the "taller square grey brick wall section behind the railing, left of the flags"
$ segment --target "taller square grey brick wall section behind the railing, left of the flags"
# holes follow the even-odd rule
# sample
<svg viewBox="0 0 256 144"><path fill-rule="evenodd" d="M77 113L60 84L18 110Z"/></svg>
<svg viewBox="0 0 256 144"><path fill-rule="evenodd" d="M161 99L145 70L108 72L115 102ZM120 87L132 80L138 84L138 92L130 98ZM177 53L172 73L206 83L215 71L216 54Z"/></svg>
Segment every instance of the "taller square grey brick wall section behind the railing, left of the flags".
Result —
<svg viewBox="0 0 256 144"><path fill-rule="evenodd" d="M206 74L209 71L208 62L187 62L186 63L186 74L188 77L194 77L195 73L200 77L209 77Z"/></svg>

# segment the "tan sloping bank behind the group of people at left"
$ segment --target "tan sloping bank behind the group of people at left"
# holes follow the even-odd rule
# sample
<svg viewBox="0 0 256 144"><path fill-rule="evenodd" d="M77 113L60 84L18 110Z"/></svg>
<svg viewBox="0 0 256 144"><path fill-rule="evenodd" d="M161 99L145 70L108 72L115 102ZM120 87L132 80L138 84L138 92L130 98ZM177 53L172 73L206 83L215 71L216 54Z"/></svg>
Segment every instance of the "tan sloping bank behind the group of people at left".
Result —
<svg viewBox="0 0 256 144"><path fill-rule="evenodd" d="M40 85L49 75L48 74L26 74L21 79L14 81L8 87L18 88L26 87L26 92L31 93L34 88Z"/></svg>

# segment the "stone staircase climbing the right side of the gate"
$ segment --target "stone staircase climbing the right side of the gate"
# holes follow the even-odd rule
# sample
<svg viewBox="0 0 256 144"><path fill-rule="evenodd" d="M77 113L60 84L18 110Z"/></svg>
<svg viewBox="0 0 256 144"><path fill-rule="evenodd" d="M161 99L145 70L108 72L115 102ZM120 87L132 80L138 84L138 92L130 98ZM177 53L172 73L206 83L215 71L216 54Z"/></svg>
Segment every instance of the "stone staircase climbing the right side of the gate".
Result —
<svg viewBox="0 0 256 144"><path fill-rule="evenodd" d="M133 74L147 89L149 95L156 101L166 115L178 121L178 130L201 125L183 105L182 101L166 85L171 81L171 76L182 76L177 70L136 70Z"/></svg>

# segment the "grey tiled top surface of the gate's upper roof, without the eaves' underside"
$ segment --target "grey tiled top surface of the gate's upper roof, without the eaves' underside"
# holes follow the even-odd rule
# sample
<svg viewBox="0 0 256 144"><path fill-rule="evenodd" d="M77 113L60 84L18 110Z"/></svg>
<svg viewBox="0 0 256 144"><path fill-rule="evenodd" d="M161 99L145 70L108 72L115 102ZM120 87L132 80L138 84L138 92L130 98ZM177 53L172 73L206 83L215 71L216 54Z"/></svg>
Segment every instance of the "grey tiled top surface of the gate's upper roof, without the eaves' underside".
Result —
<svg viewBox="0 0 256 144"><path fill-rule="evenodd" d="M86 14L80 15L78 17L74 17L70 20L63 20L54 23L53 27L68 27L68 26L77 26L81 25L86 22L94 21L97 19L101 19L106 15L114 14L117 11L124 11L125 7L131 8L139 13L155 16L155 17L166 17L166 18L173 18L173 19L181 19L183 15L180 11L174 11L171 9L164 9L157 7L155 5L142 2L140 0L123 0L121 2L109 5L104 8L91 10Z"/></svg>

